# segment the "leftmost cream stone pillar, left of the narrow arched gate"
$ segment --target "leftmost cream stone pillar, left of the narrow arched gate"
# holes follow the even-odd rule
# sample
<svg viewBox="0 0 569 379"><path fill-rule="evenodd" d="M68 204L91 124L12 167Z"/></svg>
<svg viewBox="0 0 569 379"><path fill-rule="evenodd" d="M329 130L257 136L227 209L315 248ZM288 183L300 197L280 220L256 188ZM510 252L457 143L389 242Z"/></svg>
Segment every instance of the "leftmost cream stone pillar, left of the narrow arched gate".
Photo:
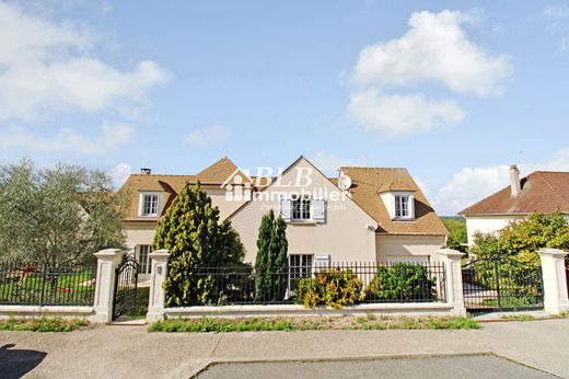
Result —
<svg viewBox="0 0 569 379"><path fill-rule="evenodd" d="M96 322L111 322L113 320L113 295L115 291L115 269L123 261L125 252L120 249L101 250L94 254L97 259L95 283L95 310Z"/></svg>

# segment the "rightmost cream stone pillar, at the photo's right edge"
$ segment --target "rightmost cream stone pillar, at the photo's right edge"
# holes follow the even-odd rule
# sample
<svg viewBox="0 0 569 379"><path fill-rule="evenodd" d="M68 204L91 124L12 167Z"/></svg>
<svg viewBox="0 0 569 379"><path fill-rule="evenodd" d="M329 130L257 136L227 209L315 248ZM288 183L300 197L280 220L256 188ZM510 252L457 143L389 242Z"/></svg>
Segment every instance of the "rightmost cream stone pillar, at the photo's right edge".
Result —
<svg viewBox="0 0 569 379"><path fill-rule="evenodd" d="M569 253L557 249L542 249L537 254L542 259L545 311L553 314L569 311L565 268L565 256Z"/></svg>

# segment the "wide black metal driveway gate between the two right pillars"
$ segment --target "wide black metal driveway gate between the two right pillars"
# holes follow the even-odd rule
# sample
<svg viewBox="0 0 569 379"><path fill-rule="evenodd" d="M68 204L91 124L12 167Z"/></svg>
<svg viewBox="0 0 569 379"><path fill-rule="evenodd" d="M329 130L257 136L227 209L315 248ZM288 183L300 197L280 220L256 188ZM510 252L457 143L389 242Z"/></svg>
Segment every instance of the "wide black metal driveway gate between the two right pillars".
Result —
<svg viewBox="0 0 569 379"><path fill-rule="evenodd" d="M463 265L464 305L472 311L542 309L542 268L497 257Z"/></svg>

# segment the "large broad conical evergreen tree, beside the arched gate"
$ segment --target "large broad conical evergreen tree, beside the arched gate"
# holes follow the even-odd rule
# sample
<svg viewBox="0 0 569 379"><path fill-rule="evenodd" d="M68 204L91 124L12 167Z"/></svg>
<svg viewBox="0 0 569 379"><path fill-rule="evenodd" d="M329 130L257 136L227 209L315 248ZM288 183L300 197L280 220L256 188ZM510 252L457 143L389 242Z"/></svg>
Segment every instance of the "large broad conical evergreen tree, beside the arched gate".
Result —
<svg viewBox="0 0 569 379"><path fill-rule="evenodd" d="M219 222L219 210L198 183L186 183L159 222L153 248L171 253L164 282L166 306L208 305L219 295L214 277L201 271L243 261L245 250L230 221Z"/></svg>

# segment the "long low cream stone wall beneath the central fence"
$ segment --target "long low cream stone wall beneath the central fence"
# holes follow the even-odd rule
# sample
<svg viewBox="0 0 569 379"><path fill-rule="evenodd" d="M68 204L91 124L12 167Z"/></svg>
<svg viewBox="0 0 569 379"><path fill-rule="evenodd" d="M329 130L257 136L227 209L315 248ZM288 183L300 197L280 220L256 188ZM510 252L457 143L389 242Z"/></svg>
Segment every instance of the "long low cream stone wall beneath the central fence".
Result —
<svg viewBox="0 0 569 379"><path fill-rule="evenodd" d="M277 315L452 315L453 307L441 302L367 303L340 309L330 307L304 308L297 305L222 306L165 308L166 319L194 319L202 317L277 317Z"/></svg>

